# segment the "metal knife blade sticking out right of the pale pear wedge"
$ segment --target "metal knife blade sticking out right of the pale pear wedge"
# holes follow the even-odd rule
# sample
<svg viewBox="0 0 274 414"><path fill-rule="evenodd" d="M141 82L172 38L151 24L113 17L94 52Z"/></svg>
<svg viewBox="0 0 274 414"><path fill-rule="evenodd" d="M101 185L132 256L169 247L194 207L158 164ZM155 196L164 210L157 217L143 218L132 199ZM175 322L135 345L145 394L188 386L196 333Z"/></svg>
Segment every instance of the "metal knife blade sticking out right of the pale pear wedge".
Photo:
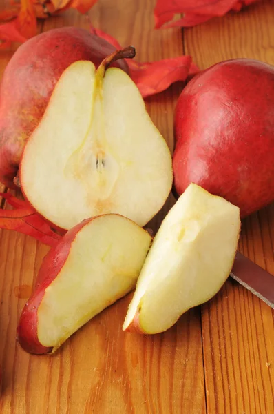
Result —
<svg viewBox="0 0 274 414"><path fill-rule="evenodd" d="M274 309L273 275L238 252L230 275Z"/></svg>

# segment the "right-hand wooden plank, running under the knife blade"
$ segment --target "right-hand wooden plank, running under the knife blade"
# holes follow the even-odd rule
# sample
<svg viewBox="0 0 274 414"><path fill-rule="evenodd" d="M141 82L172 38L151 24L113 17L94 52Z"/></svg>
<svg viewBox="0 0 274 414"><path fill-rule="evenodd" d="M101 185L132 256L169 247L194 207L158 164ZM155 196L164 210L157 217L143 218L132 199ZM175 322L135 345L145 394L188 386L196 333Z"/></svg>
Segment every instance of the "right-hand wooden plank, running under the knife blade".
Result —
<svg viewBox="0 0 274 414"><path fill-rule="evenodd" d="M235 57L274 64L274 3L186 29L184 39L202 69ZM245 219L239 248L274 275L273 222L273 206ZM271 308L229 280L202 307L202 338L208 413L274 413Z"/></svg>

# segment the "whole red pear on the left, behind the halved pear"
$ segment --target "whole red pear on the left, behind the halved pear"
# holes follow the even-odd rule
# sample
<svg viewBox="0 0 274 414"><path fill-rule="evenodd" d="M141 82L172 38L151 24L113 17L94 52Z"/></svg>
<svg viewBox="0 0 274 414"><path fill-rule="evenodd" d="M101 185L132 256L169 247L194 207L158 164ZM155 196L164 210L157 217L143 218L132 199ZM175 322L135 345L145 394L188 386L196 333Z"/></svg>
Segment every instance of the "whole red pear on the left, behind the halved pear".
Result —
<svg viewBox="0 0 274 414"><path fill-rule="evenodd" d="M48 104L56 82L71 63L89 60L96 68L114 52L110 43L82 28L58 28L26 41L14 53L1 82L0 182L16 188L19 160ZM114 66L128 72L125 61Z"/></svg>

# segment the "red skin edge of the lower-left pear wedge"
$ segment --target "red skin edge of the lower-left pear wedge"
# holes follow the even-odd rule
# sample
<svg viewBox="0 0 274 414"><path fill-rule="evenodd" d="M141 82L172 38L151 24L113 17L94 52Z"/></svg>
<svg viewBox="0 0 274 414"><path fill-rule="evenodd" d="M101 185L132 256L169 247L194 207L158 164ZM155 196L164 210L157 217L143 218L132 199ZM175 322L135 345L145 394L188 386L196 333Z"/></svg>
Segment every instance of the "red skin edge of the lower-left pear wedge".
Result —
<svg viewBox="0 0 274 414"><path fill-rule="evenodd" d="M92 217L92 219L94 218ZM92 219L83 220L80 224L77 224L77 226L68 231L43 259L37 276L36 288L23 308L17 327L19 343L28 353L45 354L52 352L52 347L43 346L39 342L37 336L37 311L45 295L45 289L59 275L61 268L65 264L76 234L89 221L92 221Z"/></svg>

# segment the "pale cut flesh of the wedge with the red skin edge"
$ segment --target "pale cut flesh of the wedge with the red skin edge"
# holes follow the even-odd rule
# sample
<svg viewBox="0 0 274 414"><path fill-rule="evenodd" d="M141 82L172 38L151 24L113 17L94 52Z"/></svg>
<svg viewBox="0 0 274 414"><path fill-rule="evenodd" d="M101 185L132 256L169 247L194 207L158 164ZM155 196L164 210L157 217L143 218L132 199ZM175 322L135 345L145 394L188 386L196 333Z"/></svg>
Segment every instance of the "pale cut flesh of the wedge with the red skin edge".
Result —
<svg viewBox="0 0 274 414"><path fill-rule="evenodd" d="M55 350L132 290L150 244L147 231L119 215L96 217L81 228L39 305L39 342Z"/></svg>

